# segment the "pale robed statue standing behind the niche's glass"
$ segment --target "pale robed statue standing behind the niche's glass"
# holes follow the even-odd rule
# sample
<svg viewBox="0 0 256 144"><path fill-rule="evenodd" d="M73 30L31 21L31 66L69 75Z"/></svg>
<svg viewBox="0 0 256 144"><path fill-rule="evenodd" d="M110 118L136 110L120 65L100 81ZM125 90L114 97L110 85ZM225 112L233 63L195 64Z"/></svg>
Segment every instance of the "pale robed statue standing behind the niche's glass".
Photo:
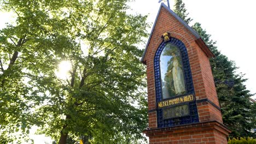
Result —
<svg viewBox="0 0 256 144"><path fill-rule="evenodd" d="M170 88L176 95L183 94L185 92L184 76L182 65L179 63L175 53L172 53L172 58L169 62L170 69L167 71L167 75L170 77ZM171 85L173 83L173 86Z"/></svg>

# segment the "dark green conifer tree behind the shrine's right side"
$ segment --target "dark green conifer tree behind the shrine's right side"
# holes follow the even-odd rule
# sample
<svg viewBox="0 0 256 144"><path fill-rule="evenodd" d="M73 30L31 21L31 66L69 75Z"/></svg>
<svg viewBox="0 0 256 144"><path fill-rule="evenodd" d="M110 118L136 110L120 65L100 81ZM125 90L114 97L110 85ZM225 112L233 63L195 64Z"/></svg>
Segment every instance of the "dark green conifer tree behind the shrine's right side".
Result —
<svg viewBox="0 0 256 144"><path fill-rule="evenodd" d="M190 22L187 10L181 0L176 1L177 14L187 23ZM223 122L232 131L230 137L256 137L251 130L256 128L255 104L243 82L243 74L237 74L237 67L228 57L220 53L216 41L196 22L192 26L216 57L210 59L214 82L222 109Z"/></svg>

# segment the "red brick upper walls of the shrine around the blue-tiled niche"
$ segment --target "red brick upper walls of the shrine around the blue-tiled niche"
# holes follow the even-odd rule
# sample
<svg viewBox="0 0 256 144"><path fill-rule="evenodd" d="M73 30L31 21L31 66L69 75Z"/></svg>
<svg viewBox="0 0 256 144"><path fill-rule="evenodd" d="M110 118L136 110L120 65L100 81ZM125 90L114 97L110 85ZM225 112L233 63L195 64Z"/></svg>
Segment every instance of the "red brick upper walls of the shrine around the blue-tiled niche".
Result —
<svg viewBox="0 0 256 144"><path fill-rule="evenodd" d="M165 8L159 13L144 60L147 63L148 110L156 109L154 56L162 43L161 35L170 32L171 37L181 40L187 47L196 100L208 99L219 106L214 86L210 62L205 53L196 44L195 36L179 23ZM222 115L216 107L208 102L197 103L200 122L218 121L222 123ZM156 128L156 112L149 112L149 128Z"/></svg>

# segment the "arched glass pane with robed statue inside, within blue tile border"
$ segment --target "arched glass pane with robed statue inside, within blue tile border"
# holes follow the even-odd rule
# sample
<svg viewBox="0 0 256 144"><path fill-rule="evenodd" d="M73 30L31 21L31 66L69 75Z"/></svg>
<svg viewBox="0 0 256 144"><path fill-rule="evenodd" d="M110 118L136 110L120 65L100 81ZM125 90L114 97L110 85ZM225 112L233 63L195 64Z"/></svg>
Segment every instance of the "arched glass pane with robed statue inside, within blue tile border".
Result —
<svg viewBox="0 0 256 144"><path fill-rule="evenodd" d="M181 52L178 47L168 43L160 55L162 98L172 98L187 92L184 82Z"/></svg>

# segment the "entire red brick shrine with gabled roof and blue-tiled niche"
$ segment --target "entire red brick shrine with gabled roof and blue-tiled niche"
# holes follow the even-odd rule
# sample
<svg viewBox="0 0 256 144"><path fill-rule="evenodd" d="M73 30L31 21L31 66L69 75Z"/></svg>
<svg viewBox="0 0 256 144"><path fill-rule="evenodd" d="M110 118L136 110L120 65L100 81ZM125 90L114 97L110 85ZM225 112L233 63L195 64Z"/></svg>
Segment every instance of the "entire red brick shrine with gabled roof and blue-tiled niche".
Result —
<svg viewBox="0 0 256 144"><path fill-rule="evenodd" d="M147 65L149 143L228 143L209 59L191 27L161 4L142 62Z"/></svg>

